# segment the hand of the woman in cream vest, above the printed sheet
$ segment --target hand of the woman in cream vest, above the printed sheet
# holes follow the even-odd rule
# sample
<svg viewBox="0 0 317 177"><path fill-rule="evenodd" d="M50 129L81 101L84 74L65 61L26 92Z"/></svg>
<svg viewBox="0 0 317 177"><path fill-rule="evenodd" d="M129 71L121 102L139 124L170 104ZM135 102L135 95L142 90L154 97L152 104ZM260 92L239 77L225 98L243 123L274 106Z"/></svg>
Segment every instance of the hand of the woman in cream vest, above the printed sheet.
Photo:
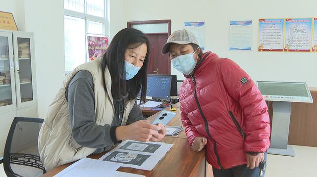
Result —
<svg viewBox="0 0 317 177"><path fill-rule="evenodd" d="M131 139L135 141L148 142L153 136L156 139L160 138L161 133L158 131L161 129L161 126L153 125L148 120L141 120L136 121L128 126L117 127L115 130L115 136L118 141Z"/></svg>

